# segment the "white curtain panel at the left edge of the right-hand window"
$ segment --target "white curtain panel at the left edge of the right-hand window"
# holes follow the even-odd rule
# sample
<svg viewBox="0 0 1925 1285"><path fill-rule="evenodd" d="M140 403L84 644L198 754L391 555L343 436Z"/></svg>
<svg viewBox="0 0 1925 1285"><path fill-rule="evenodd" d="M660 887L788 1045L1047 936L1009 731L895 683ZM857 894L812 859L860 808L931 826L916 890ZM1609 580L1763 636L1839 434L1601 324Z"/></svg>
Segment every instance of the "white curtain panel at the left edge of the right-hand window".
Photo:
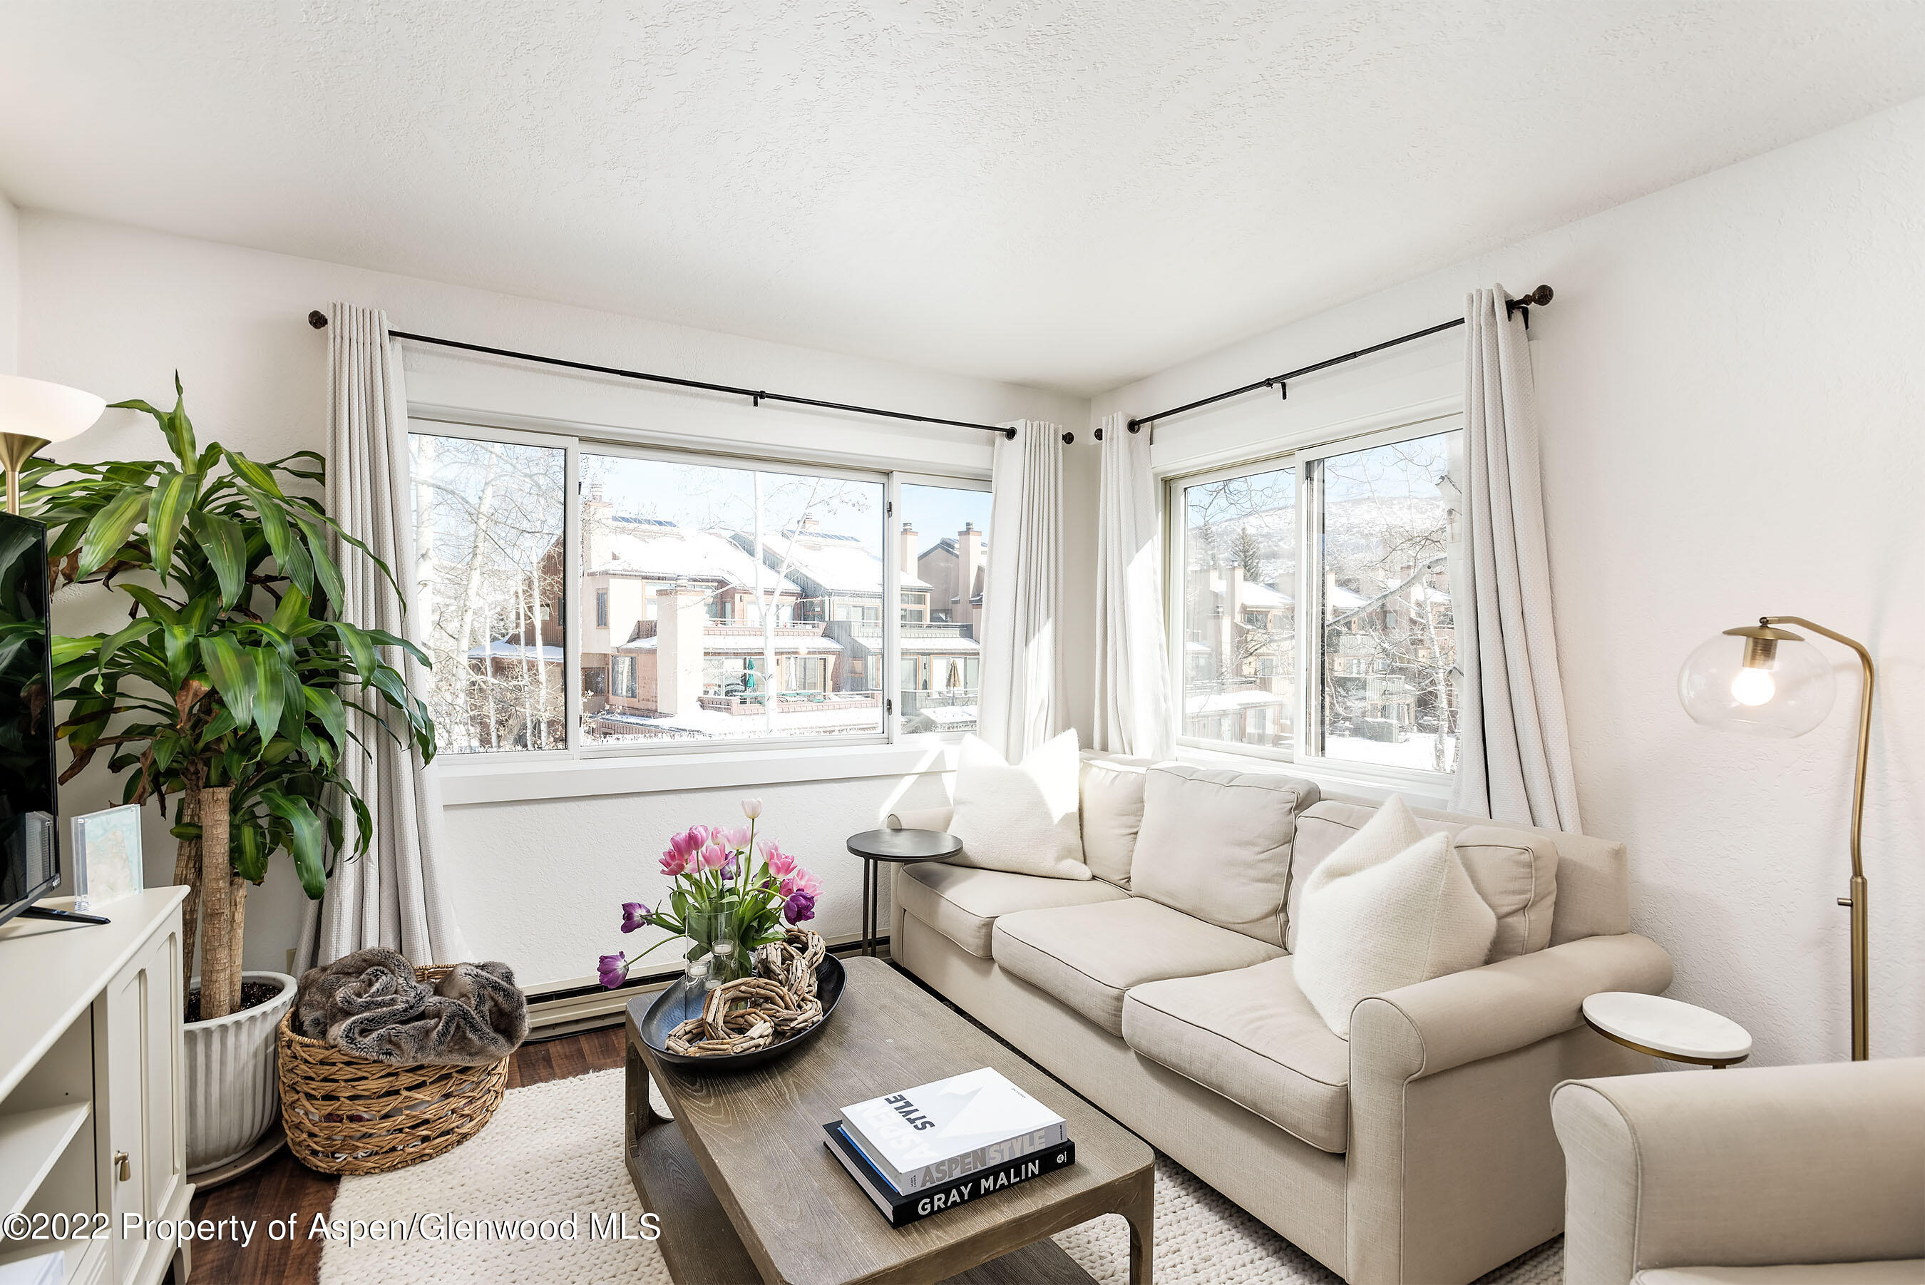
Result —
<svg viewBox="0 0 1925 1285"><path fill-rule="evenodd" d="M1095 532L1095 749L1170 755L1163 549L1149 433L1103 416Z"/></svg>

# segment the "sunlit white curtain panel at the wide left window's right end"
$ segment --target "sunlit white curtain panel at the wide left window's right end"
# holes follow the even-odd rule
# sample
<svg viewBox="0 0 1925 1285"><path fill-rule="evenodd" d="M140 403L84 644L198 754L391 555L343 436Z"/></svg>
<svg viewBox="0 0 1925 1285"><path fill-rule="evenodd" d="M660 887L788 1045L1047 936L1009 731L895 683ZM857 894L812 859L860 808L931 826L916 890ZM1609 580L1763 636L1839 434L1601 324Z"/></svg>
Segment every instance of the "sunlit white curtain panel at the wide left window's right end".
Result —
<svg viewBox="0 0 1925 1285"><path fill-rule="evenodd" d="M1063 730L1063 428L995 439L976 734L1011 763Z"/></svg>

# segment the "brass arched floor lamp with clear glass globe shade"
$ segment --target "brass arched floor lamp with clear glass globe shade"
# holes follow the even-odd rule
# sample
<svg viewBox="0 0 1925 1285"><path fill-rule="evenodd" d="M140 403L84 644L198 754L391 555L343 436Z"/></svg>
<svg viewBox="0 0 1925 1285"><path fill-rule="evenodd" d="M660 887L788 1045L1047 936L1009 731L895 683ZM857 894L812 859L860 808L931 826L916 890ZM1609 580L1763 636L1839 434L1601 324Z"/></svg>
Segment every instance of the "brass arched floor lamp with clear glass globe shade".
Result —
<svg viewBox="0 0 1925 1285"><path fill-rule="evenodd" d="M1865 761L1871 757L1871 653L1856 638L1804 616L1759 616L1725 630L1690 653L1679 672L1684 711L1706 726L1754 736L1804 736L1831 713L1836 682L1831 665L1804 636L1783 624L1823 634L1858 653L1865 680L1858 701L1858 778L1852 788L1852 1062L1871 1056L1871 1002L1865 984Z"/></svg>

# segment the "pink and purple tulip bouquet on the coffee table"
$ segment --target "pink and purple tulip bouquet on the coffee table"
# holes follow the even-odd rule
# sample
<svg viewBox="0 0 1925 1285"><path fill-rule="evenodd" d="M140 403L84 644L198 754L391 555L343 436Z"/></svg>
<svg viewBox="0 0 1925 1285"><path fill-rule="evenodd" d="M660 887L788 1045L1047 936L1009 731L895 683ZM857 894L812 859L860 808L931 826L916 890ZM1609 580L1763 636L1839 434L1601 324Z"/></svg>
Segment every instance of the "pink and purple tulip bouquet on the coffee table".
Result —
<svg viewBox="0 0 1925 1285"><path fill-rule="evenodd" d="M689 940L689 959L712 956L710 977L732 981L747 975L758 946L780 942L787 923L816 917L822 880L782 852L772 838L757 838L762 800L743 800L749 825L693 825L668 840L662 873L670 882L668 900L653 909L641 902L622 904L622 931L654 927L670 936L637 956L616 952L601 957L601 984L620 986L629 969L658 946Z"/></svg>

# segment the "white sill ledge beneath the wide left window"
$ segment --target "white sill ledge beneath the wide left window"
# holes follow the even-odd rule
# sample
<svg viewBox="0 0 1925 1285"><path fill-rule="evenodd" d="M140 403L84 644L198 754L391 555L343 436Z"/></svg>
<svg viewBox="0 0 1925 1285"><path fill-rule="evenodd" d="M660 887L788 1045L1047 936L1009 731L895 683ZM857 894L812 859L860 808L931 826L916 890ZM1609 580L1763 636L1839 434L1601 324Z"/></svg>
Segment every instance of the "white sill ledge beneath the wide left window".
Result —
<svg viewBox="0 0 1925 1285"><path fill-rule="evenodd" d="M706 753L633 753L587 757L566 751L514 757L443 757L429 769L441 782L443 807L593 798L603 794L674 794L741 786L862 776L912 776L955 771L959 742L903 740L893 746L824 746L810 749L743 749ZM477 761L481 759L481 761Z"/></svg>

